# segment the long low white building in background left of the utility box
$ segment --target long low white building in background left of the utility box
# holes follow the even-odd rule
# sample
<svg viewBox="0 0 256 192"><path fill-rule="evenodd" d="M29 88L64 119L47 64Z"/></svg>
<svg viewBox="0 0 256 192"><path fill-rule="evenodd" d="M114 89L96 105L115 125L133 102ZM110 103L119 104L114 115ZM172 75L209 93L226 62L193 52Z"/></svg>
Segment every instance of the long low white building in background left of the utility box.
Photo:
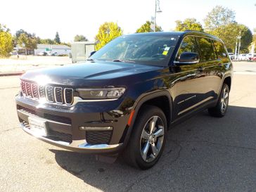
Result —
<svg viewBox="0 0 256 192"><path fill-rule="evenodd" d="M71 48L66 45L37 44L37 49L34 49L35 56L38 56L38 55L69 56L70 53L71 53Z"/></svg>

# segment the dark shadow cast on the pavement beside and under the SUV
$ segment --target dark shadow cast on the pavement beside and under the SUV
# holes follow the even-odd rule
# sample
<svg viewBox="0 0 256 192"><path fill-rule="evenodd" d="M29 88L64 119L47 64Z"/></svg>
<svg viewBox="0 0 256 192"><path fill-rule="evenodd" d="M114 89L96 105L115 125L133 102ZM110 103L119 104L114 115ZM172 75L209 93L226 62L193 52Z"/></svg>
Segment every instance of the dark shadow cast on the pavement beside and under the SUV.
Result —
<svg viewBox="0 0 256 192"><path fill-rule="evenodd" d="M50 150L60 167L102 191L254 191L256 108L229 106L223 118L207 111L168 132L155 167L140 171L97 162L94 155Z"/></svg>

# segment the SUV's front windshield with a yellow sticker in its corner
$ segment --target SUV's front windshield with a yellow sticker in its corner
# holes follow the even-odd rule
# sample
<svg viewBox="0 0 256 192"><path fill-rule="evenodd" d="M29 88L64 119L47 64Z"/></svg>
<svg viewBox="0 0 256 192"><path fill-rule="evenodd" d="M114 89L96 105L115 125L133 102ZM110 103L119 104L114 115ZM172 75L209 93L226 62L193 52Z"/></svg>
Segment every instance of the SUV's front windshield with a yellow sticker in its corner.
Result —
<svg viewBox="0 0 256 192"><path fill-rule="evenodd" d="M166 66L178 36L130 35L110 41L91 59Z"/></svg>

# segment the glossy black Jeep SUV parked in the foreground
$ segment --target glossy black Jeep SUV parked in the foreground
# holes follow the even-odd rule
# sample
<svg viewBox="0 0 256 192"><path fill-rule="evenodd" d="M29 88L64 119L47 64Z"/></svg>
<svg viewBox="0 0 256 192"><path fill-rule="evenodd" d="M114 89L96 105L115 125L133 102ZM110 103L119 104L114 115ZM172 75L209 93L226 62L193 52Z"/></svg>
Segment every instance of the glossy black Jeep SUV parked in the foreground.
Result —
<svg viewBox="0 0 256 192"><path fill-rule="evenodd" d="M231 77L226 48L210 34L129 34L85 63L26 72L18 118L42 141L82 153L122 153L130 165L148 169L172 124L206 108L225 115Z"/></svg>

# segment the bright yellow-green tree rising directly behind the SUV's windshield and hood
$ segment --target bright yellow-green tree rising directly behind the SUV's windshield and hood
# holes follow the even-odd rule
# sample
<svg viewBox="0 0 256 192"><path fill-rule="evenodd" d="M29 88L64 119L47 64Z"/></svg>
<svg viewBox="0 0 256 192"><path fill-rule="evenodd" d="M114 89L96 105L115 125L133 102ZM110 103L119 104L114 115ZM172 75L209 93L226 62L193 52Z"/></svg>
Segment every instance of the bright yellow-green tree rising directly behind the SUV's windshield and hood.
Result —
<svg viewBox="0 0 256 192"><path fill-rule="evenodd" d="M98 29L98 34L95 37L97 44L95 49L101 49L105 44L108 44L109 41L115 39L122 35L122 29L117 25L117 23L103 23Z"/></svg>

